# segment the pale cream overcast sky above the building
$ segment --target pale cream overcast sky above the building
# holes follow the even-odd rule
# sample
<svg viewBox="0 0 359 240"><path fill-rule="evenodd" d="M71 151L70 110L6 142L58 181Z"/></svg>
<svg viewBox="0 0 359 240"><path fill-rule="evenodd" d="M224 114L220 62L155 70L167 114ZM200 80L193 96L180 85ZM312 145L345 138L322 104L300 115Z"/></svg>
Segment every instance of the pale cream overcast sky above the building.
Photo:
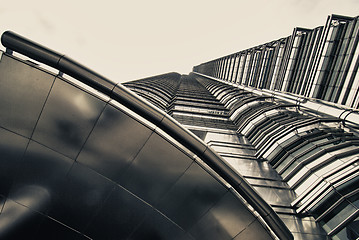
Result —
<svg viewBox="0 0 359 240"><path fill-rule="evenodd" d="M359 0L23 0L0 4L12 30L114 82L176 71L359 15ZM1 46L1 49L4 49Z"/></svg>

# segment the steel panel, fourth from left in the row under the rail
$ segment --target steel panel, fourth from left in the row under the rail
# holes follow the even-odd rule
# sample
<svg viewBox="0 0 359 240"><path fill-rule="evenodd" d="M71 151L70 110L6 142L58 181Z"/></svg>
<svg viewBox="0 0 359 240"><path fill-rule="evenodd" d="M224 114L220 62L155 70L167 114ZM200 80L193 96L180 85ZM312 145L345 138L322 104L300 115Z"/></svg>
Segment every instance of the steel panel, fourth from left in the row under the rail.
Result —
<svg viewBox="0 0 359 240"><path fill-rule="evenodd" d="M192 159L153 133L120 183L143 200L154 204L185 172Z"/></svg>

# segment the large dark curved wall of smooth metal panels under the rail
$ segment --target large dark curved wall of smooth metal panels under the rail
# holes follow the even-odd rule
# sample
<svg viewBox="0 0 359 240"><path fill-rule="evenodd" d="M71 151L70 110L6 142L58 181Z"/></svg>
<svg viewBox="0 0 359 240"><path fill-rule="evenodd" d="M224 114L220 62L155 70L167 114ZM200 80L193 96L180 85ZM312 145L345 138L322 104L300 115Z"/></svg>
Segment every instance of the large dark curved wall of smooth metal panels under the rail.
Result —
<svg viewBox="0 0 359 240"><path fill-rule="evenodd" d="M201 159L108 96L7 54L0 96L1 238L272 238Z"/></svg>

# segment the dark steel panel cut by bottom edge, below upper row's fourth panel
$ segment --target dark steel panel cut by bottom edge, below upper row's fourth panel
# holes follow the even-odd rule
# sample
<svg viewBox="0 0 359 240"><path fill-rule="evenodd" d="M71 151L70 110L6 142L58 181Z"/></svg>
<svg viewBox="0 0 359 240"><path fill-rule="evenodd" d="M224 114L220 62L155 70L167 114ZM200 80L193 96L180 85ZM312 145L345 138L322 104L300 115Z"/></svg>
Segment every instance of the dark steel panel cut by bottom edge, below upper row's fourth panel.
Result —
<svg viewBox="0 0 359 240"><path fill-rule="evenodd" d="M127 239L151 209L117 186L84 233L93 239Z"/></svg>

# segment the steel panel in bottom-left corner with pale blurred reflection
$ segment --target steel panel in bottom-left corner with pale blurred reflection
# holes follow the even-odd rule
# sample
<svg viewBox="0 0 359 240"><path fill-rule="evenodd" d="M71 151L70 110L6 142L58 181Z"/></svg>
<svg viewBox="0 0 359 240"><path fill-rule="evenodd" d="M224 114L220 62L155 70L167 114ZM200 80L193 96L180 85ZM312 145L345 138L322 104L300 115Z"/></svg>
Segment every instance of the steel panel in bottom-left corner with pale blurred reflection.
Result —
<svg viewBox="0 0 359 240"><path fill-rule="evenodd" d="M0 239L28 239L34 236L43 216L7 199L0 214Z"/></svg>

